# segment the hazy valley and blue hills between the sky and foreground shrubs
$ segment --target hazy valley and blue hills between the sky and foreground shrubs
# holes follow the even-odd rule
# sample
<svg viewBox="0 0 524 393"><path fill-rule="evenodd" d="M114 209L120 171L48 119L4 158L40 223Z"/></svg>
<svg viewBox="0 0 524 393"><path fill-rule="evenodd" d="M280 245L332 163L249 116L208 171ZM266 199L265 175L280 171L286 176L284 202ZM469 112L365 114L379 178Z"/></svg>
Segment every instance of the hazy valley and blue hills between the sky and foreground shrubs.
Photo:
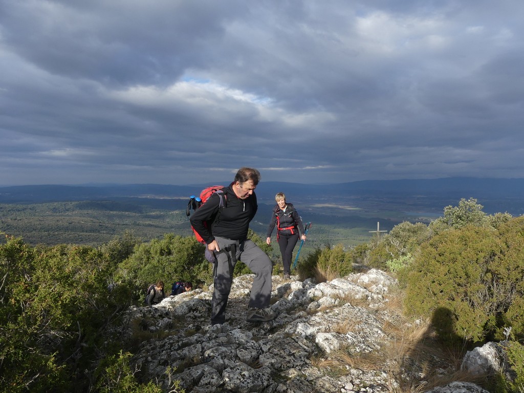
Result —
<svg viewBox="0 0 524 393"><path fill-rule="evenodd" d="M228 182L216 182L227 185ZM209 184L87 184L0 187L0 232L30 244L102 244L133 230L152 239L166 233L190 235L185 209L192 194ZM258 212L250 227L264 237L284 192L303 220L313 223L304 253L324 244L352 247L368 242L380 225L430 223L445 206L475 198L487 214L524 214L524 179L447 178L358 181L340 184L261 182Z"/></svg>

